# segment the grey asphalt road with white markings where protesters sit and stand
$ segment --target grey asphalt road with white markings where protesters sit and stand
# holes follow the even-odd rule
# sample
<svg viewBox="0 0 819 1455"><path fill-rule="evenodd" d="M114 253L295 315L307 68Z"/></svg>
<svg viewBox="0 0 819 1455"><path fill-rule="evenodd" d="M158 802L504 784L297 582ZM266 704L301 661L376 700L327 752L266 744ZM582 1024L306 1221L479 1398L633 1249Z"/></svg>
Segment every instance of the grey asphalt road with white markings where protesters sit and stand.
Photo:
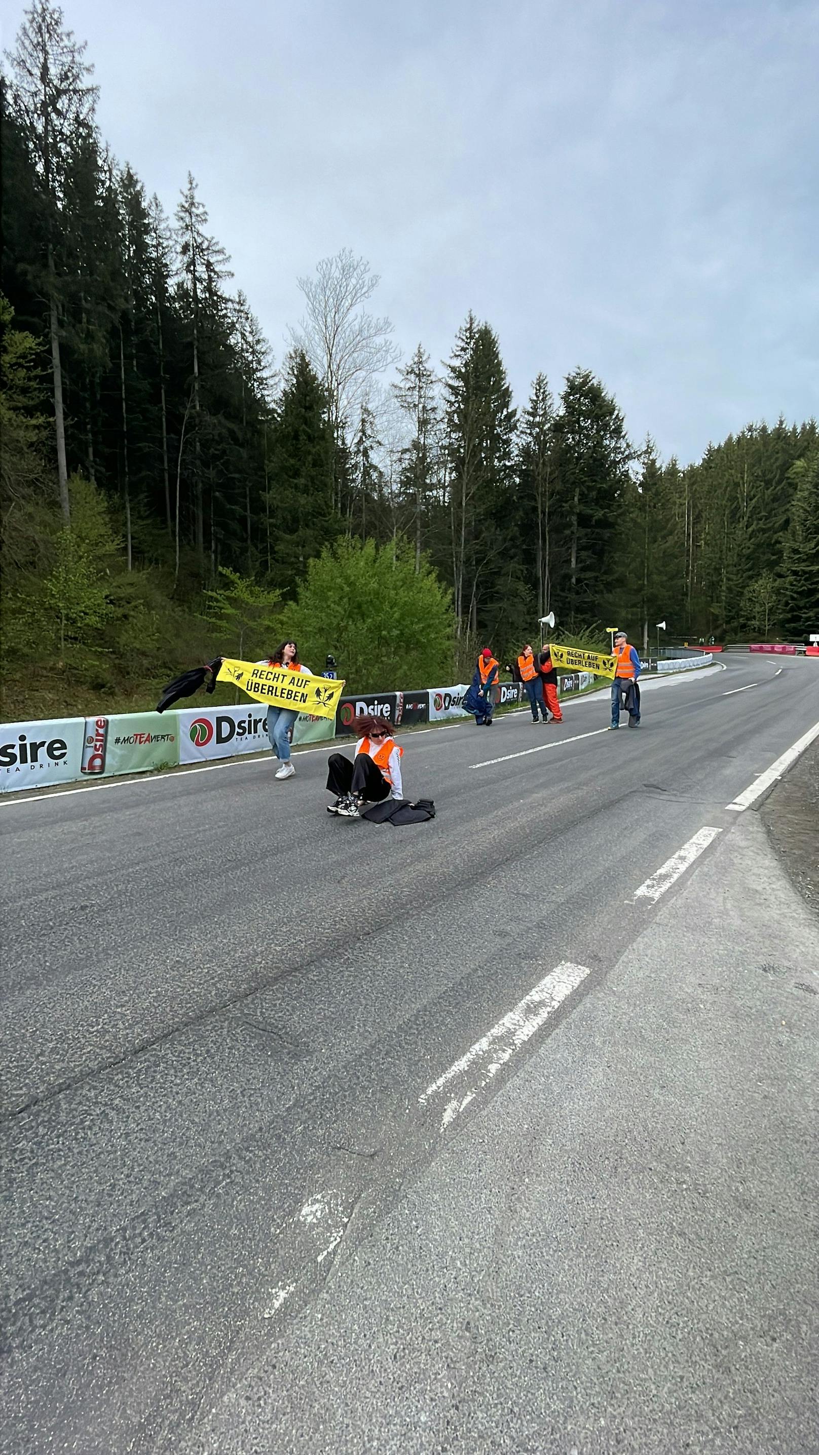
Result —
<svg viewBox="0 0 819 1455"><path fill-rule="evenodd" d="M816 1455L819 934L726 806L819 668L724 668L407 735L403 829L0 805L3 1452Z"/></svg>

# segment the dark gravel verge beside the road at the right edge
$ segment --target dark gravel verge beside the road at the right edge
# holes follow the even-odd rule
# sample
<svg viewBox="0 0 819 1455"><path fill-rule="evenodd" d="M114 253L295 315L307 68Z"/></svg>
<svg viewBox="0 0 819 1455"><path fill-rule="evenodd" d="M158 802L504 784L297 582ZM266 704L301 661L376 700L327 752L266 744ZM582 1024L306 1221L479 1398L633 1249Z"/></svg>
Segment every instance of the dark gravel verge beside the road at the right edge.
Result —
<svg viewBox="0 0 819 1455"><path fill-rule="evenodd" d="M819 914L819 739L777 783L759 813L784 869Z"/></svg>

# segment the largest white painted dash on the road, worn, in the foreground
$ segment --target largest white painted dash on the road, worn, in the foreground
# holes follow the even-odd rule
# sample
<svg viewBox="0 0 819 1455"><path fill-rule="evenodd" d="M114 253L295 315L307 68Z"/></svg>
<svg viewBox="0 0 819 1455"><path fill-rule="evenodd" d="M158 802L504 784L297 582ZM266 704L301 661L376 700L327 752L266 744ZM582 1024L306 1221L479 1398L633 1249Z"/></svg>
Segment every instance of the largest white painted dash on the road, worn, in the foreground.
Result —
<svg viewBox="0 0 819 1455"><path fill-rule="evenodd" d="M582 985L586 975L591 970L585 965L572 965L570 960L563 960L550 975L546 975L538 985L534 986L524 995L522 1001L518 1001L514 1010L511 1010L496 1026L492 1027L476 1040L473 1046L455 1061L448 1071L444 1071L435 1081L432 1081L426 1091L418 1099L419 1106L426 1106L426 1103L438 1096L444 1087L450 1085L457 1077L461 1077L470 1068L474 1068L470 1077L468 1090L463 1096L454 1097L441 1117L441 1131L444 1132L452 1125L457 1116L474 1100L479 1091L482 1091L493 1077L498 1075L502 1067L519 1051L521 1046L530 1040L537 1030L554 1014L557 1007Z"/></svg>

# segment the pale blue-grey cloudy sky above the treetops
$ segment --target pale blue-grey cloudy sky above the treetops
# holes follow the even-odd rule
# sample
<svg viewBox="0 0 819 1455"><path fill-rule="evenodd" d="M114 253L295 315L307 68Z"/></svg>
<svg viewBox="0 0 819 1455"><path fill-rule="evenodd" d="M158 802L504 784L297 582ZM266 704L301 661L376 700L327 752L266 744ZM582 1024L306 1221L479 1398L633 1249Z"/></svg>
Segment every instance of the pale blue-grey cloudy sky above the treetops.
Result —
<svg viewBox="0 0 819 1455"><path fill-rule="evenodd" d="M404 354L489 320L518 406L580 364L682 461L819 413L818 0L63 9L105 138L169 211L193 172L276 359L348 246Z"/></svg>

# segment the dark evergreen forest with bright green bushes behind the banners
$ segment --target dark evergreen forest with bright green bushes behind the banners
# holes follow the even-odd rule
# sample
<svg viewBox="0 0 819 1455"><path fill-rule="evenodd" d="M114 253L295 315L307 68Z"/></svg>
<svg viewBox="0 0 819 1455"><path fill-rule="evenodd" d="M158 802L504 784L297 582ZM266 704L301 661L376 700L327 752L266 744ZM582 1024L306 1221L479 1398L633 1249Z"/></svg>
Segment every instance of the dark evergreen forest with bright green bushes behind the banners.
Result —
<svg viewBox="0 0 819 1455"><path fill-rule="evenodd" d="M662 460L582 364L514 400L477 313L448 359L401 358L349 249L305 259L273 358L195 178L167 215L96 103L35 0L1 97L6 719L150 707L291 633L364 691L508 659L548 611L601 646L660 618L669 642L819 630L818 428L787 400Z"/></svg>

